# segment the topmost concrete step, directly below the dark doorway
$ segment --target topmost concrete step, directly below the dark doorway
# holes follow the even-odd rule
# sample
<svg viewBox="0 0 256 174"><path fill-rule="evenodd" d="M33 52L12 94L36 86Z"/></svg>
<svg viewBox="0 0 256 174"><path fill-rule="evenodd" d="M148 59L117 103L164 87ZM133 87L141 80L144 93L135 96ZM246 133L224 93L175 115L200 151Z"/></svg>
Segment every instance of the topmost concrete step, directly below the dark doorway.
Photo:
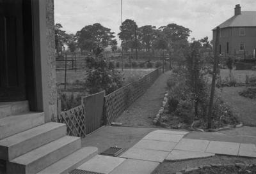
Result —
<svg viewBox="0 0 256 174"><path fill-rule="evenodd" d="M29 112L28 101L0 102L0 119L24 112Z"/></svg>

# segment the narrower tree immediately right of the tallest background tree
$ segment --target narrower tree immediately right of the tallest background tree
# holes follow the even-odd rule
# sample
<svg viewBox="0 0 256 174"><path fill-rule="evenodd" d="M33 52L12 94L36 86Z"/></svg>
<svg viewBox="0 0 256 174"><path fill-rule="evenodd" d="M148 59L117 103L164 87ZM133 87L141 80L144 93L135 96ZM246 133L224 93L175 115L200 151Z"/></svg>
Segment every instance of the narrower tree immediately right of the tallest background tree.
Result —
<svg viewBox="0 0 256 174"><path fill-rule="evenodd" d="M153 41L156 40L156 27L152 25L144 25L139 29L139 40L145 48L147 52L152 47Z"/></svg>

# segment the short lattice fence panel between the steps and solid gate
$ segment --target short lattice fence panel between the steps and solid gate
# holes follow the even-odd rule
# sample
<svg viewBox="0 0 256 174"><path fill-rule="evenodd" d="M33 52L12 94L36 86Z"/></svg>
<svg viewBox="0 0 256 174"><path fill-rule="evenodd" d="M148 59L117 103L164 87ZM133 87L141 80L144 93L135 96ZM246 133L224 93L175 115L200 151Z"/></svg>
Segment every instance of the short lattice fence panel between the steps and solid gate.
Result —
<svg viewBox="0 0 256 174"><path fill-rule="evenodd" d="M58 115L58 122L67 124L67 134L84 137L86 135L86 115L84 106L80 105Z"/></svg>

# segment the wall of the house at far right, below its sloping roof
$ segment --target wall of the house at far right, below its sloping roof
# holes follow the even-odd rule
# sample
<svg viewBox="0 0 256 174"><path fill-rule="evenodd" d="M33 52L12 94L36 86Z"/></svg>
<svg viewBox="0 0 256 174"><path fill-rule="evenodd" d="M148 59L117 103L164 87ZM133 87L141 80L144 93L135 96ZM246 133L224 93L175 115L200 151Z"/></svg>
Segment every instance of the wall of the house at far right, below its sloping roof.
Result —
<svg viewBox="0 0 256 174"><path fill-rule="evenodd" d="M240 27L228 27L220 31L221 54L223 55L243 55L244 51L239 50L241 43L244 43L246 55L253 55L253 49L256 48L256 27L244 27L245 36L239 36ZM216 36L216 30L212 31L213 44ZM229 43L229 52L227 54L227 42Z"/></svg>

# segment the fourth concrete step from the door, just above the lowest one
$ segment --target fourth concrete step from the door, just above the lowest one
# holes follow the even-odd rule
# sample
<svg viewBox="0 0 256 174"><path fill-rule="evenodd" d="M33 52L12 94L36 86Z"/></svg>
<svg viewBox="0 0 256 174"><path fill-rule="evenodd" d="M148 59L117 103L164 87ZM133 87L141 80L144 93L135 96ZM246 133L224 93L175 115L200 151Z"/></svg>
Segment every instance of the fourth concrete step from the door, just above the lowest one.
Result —
<svg viewBox="0 0 256 174"><path fill-rule="evenodd" d="M63 136L6 163L6 173L33 174L81 148L81 139Z"/></svg>

